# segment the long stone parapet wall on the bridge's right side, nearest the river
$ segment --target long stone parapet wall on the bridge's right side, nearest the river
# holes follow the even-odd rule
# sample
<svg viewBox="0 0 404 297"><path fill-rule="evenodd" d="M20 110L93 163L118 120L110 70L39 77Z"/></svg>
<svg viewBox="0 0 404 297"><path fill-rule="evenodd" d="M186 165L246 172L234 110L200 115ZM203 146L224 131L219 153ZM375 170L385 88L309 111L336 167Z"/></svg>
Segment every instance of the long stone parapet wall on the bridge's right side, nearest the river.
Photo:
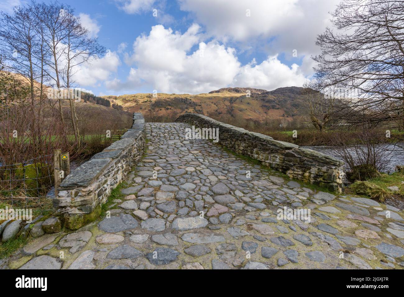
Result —
<svg viewBox="0 0 404 297"><path fill-rule="evenodd" d="M189 123L195 128L219 128L219 144L236 153L257 159L263 165L279 170L290 178L329 190L342 191L343 162L333 157L228 125L205 115L185 113L176 122Z"/></svg>

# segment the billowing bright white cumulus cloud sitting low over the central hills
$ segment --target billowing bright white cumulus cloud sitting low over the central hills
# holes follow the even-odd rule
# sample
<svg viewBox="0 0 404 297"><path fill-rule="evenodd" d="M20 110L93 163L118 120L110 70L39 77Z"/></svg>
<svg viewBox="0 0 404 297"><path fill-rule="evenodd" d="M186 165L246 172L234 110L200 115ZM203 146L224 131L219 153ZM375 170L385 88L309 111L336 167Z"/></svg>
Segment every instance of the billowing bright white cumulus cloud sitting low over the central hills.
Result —
<svg viewBox="0 0 404 297"><path fill-rule="evenodd" d="M298 65L288 67L277 55L258 65L255 60L241 65L234 48L217 40L205 42L197 24L185 33L153 26L148 35L135 40L125 60L132 65L126 81L109 80L108 89L125 92L143 87L149 92L196 94L226 86L273 90L301 86L306 80Z"/></svg>

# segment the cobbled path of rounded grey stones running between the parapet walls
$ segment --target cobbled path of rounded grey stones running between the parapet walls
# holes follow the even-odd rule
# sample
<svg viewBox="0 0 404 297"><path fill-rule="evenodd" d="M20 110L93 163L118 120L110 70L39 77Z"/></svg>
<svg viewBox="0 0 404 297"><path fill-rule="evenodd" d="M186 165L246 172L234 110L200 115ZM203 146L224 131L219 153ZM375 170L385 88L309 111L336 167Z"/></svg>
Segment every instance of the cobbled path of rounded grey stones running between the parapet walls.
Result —
<svg viewBox="0 0 404 297"><path fill-rule="evenodd" d="M147 155L111 217L42 236L2 268L403 268L399 209L310 190L211 140L185 139L188 127L147 123ZM283 207L309 209L310 222L281 220Z"/></svg>

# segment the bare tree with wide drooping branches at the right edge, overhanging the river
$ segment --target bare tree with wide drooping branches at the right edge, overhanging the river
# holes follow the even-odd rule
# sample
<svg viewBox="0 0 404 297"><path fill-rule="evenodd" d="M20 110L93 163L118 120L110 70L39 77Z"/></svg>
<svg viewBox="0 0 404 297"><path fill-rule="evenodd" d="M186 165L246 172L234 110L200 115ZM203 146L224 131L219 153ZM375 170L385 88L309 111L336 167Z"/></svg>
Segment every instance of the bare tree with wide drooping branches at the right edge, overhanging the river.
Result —
<svg viewBox="0 0 404 297"><path fill-rule="evenodd" d="M314 88L351 90L333 113L358 123L395 122L404 128L404 2L343 0L316 44Z"/></svg>

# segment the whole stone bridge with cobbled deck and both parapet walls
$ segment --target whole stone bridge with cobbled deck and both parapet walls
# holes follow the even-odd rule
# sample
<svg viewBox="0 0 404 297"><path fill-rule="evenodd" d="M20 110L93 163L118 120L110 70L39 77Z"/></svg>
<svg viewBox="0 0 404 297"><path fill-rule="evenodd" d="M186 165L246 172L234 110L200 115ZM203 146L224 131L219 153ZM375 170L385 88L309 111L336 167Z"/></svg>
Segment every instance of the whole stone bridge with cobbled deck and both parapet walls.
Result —
<svg viewBox="0 0 404 297"><path fill-rule="evenodd" d="M218 143L186 137L192 126L219 129ZM59 215L33 223L46 234L0 266L402 269L402 210L343 195L341 166L203 115L135 113L62 182Z"/></svg>

